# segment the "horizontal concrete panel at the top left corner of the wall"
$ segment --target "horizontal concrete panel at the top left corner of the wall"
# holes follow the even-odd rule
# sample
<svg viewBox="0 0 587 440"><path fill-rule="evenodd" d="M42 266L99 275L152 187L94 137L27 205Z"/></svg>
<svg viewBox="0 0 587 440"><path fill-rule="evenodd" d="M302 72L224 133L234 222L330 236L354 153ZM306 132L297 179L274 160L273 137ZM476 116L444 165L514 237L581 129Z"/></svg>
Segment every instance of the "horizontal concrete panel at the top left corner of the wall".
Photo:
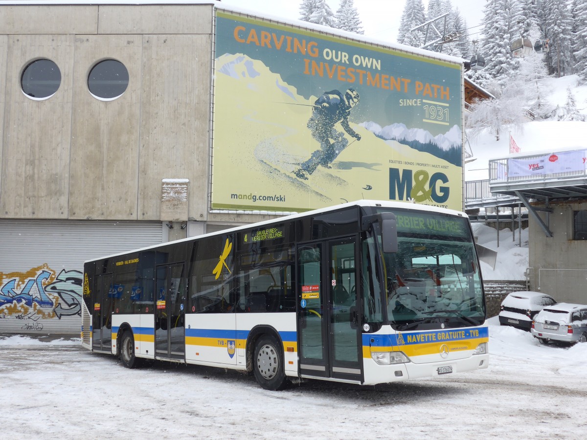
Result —
<svg viewBox="0 0 587 440"><path fill-rule="evenodd" d="M96 33L98 6L22 5L2 6L2 33Z"/></svg>

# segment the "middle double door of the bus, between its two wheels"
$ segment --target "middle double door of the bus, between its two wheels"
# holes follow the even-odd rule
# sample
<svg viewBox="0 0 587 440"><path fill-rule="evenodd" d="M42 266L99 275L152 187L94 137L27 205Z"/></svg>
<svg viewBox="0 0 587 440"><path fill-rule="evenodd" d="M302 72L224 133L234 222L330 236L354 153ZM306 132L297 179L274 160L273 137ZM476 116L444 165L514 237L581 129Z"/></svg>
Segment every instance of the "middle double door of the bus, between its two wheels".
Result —
<svg viewBox="0 0 587 440"><path fill-rule="evenodd" d="M155 357L185 358L184 263L157 266Z"/></svg>

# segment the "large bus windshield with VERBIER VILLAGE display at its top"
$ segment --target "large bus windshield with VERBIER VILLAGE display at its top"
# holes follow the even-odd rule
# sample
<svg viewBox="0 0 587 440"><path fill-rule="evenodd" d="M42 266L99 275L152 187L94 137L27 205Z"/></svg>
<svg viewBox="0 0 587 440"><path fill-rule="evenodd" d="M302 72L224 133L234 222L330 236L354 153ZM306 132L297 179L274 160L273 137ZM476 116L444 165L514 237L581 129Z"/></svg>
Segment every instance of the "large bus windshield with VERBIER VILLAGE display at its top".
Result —
<svg viewBox="0 0 587 440"><path fill-rule="evenodd" d="M483 289L467 219L397 211L396 219L397 252L382 254L389 323L397 330L483 323Z"/></svg>

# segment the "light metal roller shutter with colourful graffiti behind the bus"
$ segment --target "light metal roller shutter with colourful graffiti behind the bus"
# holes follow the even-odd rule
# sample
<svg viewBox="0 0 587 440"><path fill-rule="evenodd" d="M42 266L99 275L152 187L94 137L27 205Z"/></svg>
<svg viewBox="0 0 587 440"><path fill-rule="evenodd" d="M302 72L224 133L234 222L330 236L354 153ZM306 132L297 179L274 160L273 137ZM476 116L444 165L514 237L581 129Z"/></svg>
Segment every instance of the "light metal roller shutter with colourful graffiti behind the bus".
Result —
<svg viewBox="0 0 587 440"><path fill-rule="evenodd" d="M0 333L79 334L83 262L162 241L161 222L0 219Z"/></svg>

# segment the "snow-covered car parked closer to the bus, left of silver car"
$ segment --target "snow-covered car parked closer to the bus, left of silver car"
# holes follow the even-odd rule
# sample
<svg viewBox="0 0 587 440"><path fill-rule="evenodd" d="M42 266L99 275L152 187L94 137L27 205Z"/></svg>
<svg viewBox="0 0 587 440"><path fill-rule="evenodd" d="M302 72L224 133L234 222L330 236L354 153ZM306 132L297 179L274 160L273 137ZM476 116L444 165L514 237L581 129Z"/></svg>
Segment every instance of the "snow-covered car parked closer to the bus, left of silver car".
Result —
<svg viewBox="0 0 587 440"><path fill-rule="evenodd" d="M501 303L500 325L530 331L532 319L556 300L541 292L511 292Z"/></svg>

